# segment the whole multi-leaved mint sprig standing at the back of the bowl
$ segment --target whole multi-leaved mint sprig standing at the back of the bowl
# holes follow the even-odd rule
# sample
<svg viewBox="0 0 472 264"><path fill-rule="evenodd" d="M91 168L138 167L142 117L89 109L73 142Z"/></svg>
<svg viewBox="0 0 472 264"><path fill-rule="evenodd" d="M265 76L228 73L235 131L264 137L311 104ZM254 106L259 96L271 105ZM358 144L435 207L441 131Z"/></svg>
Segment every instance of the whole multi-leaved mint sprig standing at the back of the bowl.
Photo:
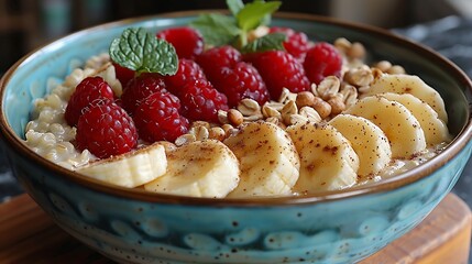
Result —
<svg viewBox="0 0 472 264"><path fill-rule="evenodd" d="M201 14L190 23L190 26L201 33L209 46L233 45L242 48L248 45L248 34L260 25L267 25L271 14L277 11L281 4L281 1L254 0L244 4L241 0L227 0L232 16L218 13ZM272 50L279 47L279 44Z"/></svg>

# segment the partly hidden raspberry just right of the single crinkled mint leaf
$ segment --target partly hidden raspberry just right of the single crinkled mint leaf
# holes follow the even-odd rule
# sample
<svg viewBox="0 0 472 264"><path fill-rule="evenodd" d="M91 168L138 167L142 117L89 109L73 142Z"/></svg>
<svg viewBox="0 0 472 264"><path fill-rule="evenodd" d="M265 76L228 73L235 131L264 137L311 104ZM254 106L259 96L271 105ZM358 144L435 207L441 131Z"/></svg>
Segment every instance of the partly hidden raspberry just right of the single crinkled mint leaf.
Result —
<svg viewBox="0 0 472 264"><path fill-rule="evenodd" d="M206 79L204 70L200 66L190 59L179 59L178 70L175 75L164 76L167 90L172 94L179 96L182 88L191 81L197 79Z"/></svg>

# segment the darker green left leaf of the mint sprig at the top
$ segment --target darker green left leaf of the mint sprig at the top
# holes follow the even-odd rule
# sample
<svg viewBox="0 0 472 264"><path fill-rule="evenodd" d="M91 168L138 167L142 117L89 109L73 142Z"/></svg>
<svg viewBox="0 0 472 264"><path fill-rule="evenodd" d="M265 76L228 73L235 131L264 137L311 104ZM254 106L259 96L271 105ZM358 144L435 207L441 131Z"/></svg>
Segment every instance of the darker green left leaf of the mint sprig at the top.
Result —
<svg viewBox="0 0 472 264"><path fill-rule="evenodd" d="M241 32L233 18L217 13L202 14L190 26L197 29L210 46L232 43Z"/></svg>

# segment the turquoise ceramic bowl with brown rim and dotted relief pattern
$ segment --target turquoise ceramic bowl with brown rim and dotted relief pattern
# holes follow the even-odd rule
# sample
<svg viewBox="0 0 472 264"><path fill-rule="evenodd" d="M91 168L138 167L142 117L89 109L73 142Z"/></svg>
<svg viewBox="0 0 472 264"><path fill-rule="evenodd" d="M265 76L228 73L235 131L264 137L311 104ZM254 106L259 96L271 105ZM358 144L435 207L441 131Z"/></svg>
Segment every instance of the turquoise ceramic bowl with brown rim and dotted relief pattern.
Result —
<svg viewBox="0 0 472 264"><path fill-rule="evenodd" d="M341 191L272 199L204 199L147 194L80 177L23 143L32 101L129 26L187 24L184 12L105 24L32 52L4 75L1 143L14 175L54 221L122 263L355 263L417 226L451 190L472 150L470 79L433 51L388 32L327 18L279 14L274 25L316 41L363 43L369 59L403 65L444 98L454 139L397 177Z"/></svg>

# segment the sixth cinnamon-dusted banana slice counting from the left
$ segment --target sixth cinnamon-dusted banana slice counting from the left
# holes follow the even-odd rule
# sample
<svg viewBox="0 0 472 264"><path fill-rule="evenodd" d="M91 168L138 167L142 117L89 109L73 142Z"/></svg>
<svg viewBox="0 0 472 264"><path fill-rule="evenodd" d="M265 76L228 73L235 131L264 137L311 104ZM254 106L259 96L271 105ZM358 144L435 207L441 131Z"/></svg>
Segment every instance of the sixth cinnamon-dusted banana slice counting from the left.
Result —
<svg viewBox="0 0 472 264"><path fill-rule="evenodd" d="M370 96L355 102L344 113L363 117L381 128L388 139L394 158L409 158L426 148L421 125L399 102Z"/></svg>

